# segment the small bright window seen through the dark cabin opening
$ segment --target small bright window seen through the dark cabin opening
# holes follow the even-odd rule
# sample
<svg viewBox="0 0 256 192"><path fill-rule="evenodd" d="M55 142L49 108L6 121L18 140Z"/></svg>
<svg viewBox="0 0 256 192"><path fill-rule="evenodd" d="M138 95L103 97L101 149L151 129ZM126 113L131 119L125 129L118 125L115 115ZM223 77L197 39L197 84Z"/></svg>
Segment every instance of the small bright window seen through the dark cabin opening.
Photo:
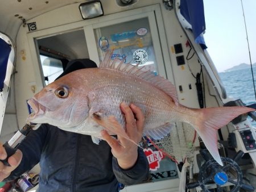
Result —
<svg viewBox="0 0 256 192"><path fill-rule="evenodd" d="M59 59L40 55L44 81L46 85L51 84L63 72L63 63Z"/></svg>

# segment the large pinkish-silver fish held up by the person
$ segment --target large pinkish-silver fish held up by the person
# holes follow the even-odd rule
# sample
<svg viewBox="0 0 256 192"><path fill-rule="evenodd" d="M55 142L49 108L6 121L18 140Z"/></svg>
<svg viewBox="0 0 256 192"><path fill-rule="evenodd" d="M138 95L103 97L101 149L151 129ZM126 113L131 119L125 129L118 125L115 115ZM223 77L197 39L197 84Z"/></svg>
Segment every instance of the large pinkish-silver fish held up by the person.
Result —
<svg viewBox="0 0 256 192"><path fill-rule="evenodd" d="M98 143L102 129L129 139L121 102L141 108L145 118L143 134L154 139L170 133L175 122L191 124L220 165L217 130L236 116L254 111L248 107L196 109L179 105L171 82L138 66L111 60L108 53L99 68L76 70L44 87L28 101L35 111L28 120L91 135L94 143Z"/></svg>

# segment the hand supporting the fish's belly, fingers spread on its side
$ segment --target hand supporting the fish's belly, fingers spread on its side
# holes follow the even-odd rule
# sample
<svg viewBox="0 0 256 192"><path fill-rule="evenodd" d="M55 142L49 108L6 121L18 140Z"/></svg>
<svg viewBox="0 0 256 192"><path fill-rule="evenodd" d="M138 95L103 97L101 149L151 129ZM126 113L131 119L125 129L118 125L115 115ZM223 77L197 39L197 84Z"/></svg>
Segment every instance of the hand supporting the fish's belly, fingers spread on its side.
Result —
<svg viewBox="0 0 256 192"><path fill-rule="evenodd" d="M133 104L129 107L126 103L121 103L120 106L123 114L125 114L126 133L131 140L138 144L142 138L144 115L141 109ZM119 135L117 135L118 139L116 140L105 130L101 131L101 135L112 148L112 154L117 158L118 165L122 169L129 169L135 164L138 158L137 145Z"/></svg>

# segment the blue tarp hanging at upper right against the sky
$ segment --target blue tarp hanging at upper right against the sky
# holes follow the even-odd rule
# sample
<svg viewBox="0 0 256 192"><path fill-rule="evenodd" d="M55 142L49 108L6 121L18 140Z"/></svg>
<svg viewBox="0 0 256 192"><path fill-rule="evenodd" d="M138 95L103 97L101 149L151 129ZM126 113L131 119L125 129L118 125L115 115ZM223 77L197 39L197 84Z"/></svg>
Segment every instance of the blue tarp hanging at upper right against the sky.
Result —
<svg viewBox="0 0 256 192"><path fill-rule="evenodd" d="M206 49L203 32L205 31L203 0L180 0L180 13L192 26L195 42Z"/></svg>

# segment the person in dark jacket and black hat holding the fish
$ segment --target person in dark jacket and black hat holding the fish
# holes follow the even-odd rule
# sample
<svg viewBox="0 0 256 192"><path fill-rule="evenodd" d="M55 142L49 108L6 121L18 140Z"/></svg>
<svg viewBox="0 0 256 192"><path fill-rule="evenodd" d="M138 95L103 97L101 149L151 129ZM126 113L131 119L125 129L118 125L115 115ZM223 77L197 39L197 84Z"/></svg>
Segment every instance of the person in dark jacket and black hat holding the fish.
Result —
<svg viewBox="0 0 256 192"><path fill-rule="evenodd" d="M97 67L88 60L86 66ZM61 76L78 68L68 68ZM0 181L19 177L40 162L38 191L118 191L118 182L132 185L147 179L149 166L146 156L137 145L142 139L144 115L134 104L122 102L119 106L124 116L126 134L110 136L101 130L100 143L93 137L61 130L43 123L31 131L20 143L15 154L9 157L10 166L0 162ZM65 112L65 111L63 111ZM64 118L64 114L63 118ZM55 115L57 116L57 114ZM118 124L116 119L111 123ZM135 145L135 144L136 145ZM6 158L0 144L0 159Z"/></svg>

